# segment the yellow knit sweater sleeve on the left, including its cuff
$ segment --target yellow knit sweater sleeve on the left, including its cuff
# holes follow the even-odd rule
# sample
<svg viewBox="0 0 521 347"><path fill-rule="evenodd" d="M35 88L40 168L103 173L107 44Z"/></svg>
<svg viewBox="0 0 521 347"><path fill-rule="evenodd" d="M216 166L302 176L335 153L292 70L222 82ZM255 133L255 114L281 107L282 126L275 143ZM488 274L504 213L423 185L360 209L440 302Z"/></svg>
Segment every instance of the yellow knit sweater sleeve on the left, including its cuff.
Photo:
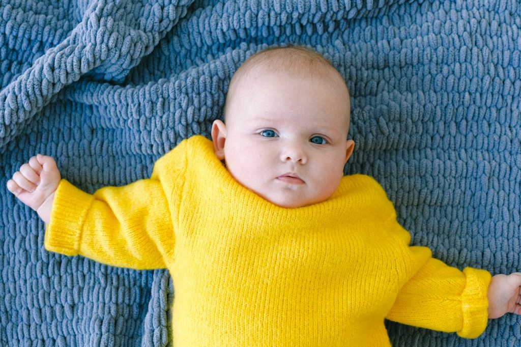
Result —
<svg viewBox="0 0 521 347"><path fill-rule="evenodd" d="M61 180L45 248L118 267L167 267L175 244L171 213L178 204L172 186L182 175L183 162L184 151L176 147L156 162L150 179L101 188L94 194Z"/></svg>

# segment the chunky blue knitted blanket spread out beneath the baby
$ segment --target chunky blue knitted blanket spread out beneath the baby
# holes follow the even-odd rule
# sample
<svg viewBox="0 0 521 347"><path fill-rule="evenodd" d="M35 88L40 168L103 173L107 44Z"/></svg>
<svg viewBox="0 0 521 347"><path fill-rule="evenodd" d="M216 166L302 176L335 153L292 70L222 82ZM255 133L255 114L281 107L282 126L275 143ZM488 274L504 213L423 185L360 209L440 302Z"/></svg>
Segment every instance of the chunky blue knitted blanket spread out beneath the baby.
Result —
<svg viewBox="0 0 521 347"><path fill-rule="evenodd" d="M43 222L5 184L36 153L87 192L149 176L179 141L209 135L235 69L272 44L314 47L342 73L346 173L383 185L413 244L458 268L521 270L517 3L3 0L0 344L172 345L165 270L46 252ZM397 346L521 343L511 315L473 341L387 327Z"/></svg>

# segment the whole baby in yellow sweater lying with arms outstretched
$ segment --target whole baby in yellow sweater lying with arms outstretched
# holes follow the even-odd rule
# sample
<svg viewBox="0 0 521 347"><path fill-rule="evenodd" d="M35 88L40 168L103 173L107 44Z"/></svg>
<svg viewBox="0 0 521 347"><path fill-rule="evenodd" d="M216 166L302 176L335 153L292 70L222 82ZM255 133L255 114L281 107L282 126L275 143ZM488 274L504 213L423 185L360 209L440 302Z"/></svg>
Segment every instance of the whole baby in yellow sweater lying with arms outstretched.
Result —
<svg viewBox="0 0 521 347"><path fill-rule="evenodd" d="M521 274L433 259L375 180L343 176L349 116L327 60L271 48L233 76L213 141L182 141L150 179L91 195L39 154L7 187L47 250L168 268L176 345L389 345L385 318L474 338L520 314Z"/></svg>

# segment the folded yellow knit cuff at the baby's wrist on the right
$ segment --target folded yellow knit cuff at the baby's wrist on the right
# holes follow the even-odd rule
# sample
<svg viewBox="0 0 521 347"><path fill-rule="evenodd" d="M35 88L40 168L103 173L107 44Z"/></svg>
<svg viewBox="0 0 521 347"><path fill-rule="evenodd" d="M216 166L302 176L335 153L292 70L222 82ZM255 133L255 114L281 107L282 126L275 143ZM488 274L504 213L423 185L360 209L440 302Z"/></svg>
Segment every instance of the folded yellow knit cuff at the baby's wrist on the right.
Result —
<svg viewBox="0 0 521 347"><path fill-rule="evenodd" d="M457 334L466 339L477 338L488 323L488 286L491 275L488 271L467 267L463 269L467 278L462 293L463 328Z"/></svg>

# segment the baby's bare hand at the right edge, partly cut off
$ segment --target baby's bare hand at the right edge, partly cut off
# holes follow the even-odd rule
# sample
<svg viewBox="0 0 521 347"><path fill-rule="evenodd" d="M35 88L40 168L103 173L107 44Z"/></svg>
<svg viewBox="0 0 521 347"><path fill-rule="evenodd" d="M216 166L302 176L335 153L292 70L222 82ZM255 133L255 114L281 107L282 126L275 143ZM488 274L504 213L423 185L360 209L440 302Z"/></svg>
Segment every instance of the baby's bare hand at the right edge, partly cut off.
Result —
<svg viewBox="0 0 521 347"><path fill-rule="evenodd" d="M506 313L521 314L521 273L493 276L487 298L489 318L499 318Z"/></svg>

